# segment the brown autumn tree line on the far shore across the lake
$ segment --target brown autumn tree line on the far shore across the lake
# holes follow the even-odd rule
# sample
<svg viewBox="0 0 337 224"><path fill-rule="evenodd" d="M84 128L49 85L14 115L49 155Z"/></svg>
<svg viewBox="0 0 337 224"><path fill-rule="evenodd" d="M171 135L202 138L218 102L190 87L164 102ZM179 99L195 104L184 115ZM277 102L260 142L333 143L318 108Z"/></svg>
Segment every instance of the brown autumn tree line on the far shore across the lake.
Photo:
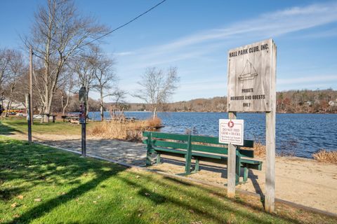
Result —
<svg viewBox="0 0 337 224"><path fill-rule="evenodd" d="M130 111L150 109L147 104L128 104L126 106ZM159 111L226 112L227 97L192 99L162 104ZM277 113L337 113L337 91L327 89L277 92Z"/></svg>

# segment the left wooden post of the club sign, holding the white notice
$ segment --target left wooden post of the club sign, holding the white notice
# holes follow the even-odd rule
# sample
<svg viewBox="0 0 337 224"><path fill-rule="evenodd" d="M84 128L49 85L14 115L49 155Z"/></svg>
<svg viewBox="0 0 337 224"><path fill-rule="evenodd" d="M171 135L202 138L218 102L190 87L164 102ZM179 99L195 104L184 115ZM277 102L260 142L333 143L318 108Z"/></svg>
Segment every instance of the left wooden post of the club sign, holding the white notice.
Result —
<svg viewBox="0 0 337 224"><path fill-rule="evenodd" d="M228 112L228 118L237 119L237 112ZM235 197L235 160L237 157L237 147L228 144L228 161L227 161L227 197Z"/></svg>

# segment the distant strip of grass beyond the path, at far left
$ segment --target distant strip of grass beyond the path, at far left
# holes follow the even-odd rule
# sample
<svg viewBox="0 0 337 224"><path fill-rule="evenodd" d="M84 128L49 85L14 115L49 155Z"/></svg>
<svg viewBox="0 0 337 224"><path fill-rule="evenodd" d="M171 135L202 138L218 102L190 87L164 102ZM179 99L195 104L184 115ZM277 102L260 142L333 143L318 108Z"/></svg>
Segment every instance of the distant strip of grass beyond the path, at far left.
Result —
<svg viewBox="0 0 337 224"><path fill-rule="evenodd" d="M88 130L95 123L88 123ZM25 118L0 118L0 134L27 133L27 120ZM63 123L39 123L39 120L32 125L33 134L78 134L81 135L81 125Z"/></svg>

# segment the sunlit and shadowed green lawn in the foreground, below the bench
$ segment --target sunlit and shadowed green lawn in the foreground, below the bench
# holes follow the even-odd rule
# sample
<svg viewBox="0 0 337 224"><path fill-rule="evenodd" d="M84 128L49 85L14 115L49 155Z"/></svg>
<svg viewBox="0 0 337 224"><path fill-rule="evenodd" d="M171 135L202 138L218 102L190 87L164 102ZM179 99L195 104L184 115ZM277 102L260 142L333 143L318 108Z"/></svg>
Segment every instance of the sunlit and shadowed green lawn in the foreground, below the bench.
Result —
<svg viewBox="0 0 337 224"><path fill-rule="evenodd" d="M193 185L0 137L0 223L336 223L245 195Z"/></svg>

